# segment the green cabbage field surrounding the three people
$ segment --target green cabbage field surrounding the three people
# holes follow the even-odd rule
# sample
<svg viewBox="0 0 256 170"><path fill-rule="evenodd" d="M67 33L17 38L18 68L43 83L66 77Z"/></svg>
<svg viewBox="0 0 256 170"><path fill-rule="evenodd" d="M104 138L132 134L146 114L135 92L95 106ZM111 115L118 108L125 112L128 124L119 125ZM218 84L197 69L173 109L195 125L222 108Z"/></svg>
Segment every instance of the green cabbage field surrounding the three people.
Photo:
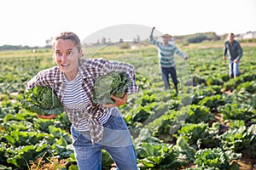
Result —
<svg viewBox="0 0 256 170"><path fill-rule="evenodd" d="M176 56L179 94L164 89L151 44L84 47L86 58L136 68L140 92L119 110L139 169L256 168L256 45L241 44L241 76L230 78L221 43L179 46L189 56ZM39 119L20 105L26 82L54 65L51 56L49 48L0 51L0 169L78 169L67 116ZM113 166L103 151L102 169Z"/></svg>

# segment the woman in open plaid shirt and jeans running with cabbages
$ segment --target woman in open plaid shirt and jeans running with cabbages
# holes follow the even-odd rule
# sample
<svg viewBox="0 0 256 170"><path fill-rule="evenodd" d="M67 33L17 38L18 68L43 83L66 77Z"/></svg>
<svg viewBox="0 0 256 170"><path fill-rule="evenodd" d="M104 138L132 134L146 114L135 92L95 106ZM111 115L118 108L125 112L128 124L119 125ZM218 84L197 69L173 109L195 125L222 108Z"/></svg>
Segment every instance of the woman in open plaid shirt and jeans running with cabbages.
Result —
<svg viewBox="0 0 256 170"><path fill-rule="evenodd" d="M53 58L56 66L40 71L27 83L27 89L47 86L55 90L72 123L71 136L79 170L101 170L102 149L112 156L117 169L137 170L137 156L123 117L117 108L125 105L128 94L138 92L132 65L107 59L83 59L79 37L62 32L55 37ZM111 71L125 71L131 86L123 98L111 96L114 104L93 103L96 78ZM39 116L50 119L51 116Z"/></svg>

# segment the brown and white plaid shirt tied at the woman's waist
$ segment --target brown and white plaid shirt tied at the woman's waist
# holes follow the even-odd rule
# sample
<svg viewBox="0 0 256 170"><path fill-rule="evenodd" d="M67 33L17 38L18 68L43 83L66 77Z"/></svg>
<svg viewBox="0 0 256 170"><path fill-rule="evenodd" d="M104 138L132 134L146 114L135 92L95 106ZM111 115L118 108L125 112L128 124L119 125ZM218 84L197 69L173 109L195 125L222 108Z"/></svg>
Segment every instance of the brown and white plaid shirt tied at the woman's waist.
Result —
<svg viewBox="0 0 256 170"><path fill-rule="evenodd" d="M102 114L107 113L109 108L103 107L92 102L93 98L93 85L97 77L107 74L110 71L126 71L131 78L132 85L127 88L126 94L134 94L138 92L138 86L135 79L135 71L132 65L127 63L121 63L118 61L110 61L107 59L80 59L79 60L79 74L83 79L82 88L84 93L90 99L90 105L86 110L70 110L65 107L65 112L73 124L73 127L79 127L80 118L86 117L89 129L91 142L96 143L102 139L103 127L98 121L98 118ZM31 81L27 83L27 89L33 88L38 85L47 86L55 90L55 94L61 100L63 104L63 98L65 93L65 84L63 82L64 74L61 70L54 66L50 69L40 71L38 74L32 78Z"/></svg>

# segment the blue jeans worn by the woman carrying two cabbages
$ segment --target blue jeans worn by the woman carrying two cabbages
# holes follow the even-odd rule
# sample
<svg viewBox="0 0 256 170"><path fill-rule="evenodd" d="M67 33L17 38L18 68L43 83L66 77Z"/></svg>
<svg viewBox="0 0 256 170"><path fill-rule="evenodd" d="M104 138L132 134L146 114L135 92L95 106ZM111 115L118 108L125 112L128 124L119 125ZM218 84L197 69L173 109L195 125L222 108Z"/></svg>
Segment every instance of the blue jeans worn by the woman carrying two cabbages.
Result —
<svg viewBox="0 0 256 170"><path fill-rule="evenodd" d="M120 170L137 170L137 156L131 134L117 108L104 125L102 141L91 144L89 132L71 127L73 147L79 170L102 170L102 150L107 150ZM117 142L116 142L117 141Z"/></svg>

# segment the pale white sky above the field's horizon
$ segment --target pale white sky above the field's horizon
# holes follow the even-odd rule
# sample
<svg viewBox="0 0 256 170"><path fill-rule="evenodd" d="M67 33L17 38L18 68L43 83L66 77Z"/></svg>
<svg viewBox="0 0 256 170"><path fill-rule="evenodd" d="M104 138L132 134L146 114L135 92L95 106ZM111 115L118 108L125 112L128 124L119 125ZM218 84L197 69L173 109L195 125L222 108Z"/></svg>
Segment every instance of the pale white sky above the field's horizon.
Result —
<svg viewBox="0 0 256 170"><path fill-rule="evenodd" d="M117 31L148 37L153 26L172 36L256 31L256 0L8 0L0 5L0 46L44 46L61 31L96 41L89 37L102 38L100 32L108 34L109 28L107 38Z"/></svg>

